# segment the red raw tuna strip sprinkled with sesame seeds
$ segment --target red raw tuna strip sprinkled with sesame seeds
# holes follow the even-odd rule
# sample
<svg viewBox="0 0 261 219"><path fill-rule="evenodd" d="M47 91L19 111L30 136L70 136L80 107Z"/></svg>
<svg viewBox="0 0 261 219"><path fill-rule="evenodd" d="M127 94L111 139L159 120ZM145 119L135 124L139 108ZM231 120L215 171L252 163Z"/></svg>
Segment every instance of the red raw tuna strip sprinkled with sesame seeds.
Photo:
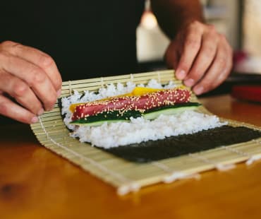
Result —
<svg viewBox="0 0 261 219"><path fill-rule="evenodd" d="M160 90L140 96L113 97L108 100L99 100L78 105L73 112L72 121L114 110L119 110L119 112L126 110L145 112L145 110L154 107L174 105L176 103L189 102L189 100L190 91L182 88Z"/></svg>

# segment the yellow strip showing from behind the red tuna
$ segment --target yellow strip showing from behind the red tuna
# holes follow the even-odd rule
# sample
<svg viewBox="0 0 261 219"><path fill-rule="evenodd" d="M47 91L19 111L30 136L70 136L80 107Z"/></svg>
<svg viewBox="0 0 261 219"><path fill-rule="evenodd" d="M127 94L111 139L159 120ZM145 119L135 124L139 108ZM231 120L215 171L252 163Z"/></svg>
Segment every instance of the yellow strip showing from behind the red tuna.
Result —
<svg viewBox="0 0 261 219"><path fill-rule="evenodd" d="M185 87L184 87L184 88L185 88ZM126 93L126 94L124 94L124 95L118 95L118 96L114 96L114 97L141 96L141 95L145 95L145 94L147 94L147 93L154 93L154 92L157 92L157 91L160 91L160 90L166 90L166 89L136 87L136 88L133 89L133 91L132 91L131 93ZM109 99L111 99L111 97L102 99L101 101L109 100ZM85 104L85 103L84 103L84 102L81 102L81 103L72 104L69 109L70 109L71 112L74 112L74 111L75 111L75 108L76 108L78 105L82 105L82 104Z"/></svg>

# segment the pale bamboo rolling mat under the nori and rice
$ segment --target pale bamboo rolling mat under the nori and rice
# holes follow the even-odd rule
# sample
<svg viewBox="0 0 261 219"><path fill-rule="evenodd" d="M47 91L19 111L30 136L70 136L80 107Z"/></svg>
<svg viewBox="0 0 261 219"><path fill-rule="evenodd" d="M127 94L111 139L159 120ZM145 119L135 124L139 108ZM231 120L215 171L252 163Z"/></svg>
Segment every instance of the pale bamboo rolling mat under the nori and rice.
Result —
<svg viewBox="0 0 261 219"><path fill-rule="evenodd" d="M156 79L162 84L175 81L173 70L154 71L148 73L136 73L123 76L111 76L104 78L93 78L80 81L63 82L61 97L66 97L78 90L97 91L99 88L110 83L147 83L150 79ZM198 102L193 95L193 102ZM205 107L200 107L200 112L210 114ZM260 127L243 124L231 120L221 119L229 122L230 126L246 126L250 129L261 131ZM43 146L61 155L94 174L99 179L116 187L118 194L127 194L130 191L138 191L141 187L159 182L174 182L176 179L194 177L199 172L206 170L226 170L233 167L237 162L246 161L247 164L261 158L261 138L237 143L230 146L205 150L200 153L190 153L176 158L168 158L147 163L137 163L117 158L110 153L99 150L87 143L80 143L78 139L71 138L69 131L63 124L58 103L53 110L45 112L40 121L31 125L32 131Z"/></svg>

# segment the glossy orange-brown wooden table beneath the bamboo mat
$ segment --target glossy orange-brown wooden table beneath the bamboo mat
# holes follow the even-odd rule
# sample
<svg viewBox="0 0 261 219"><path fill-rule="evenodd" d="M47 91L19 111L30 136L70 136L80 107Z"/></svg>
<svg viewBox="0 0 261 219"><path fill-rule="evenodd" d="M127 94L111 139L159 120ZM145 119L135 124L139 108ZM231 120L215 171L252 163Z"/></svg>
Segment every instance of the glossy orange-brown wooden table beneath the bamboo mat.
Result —
<svg viewBox="0 0 261 219"><path fill-rule="evenodd" d="M214 114L261 126L261 105L202 98ZM30 127L0 126L0 218L261 218L261 162L117 196L40 146Z"/></svg>

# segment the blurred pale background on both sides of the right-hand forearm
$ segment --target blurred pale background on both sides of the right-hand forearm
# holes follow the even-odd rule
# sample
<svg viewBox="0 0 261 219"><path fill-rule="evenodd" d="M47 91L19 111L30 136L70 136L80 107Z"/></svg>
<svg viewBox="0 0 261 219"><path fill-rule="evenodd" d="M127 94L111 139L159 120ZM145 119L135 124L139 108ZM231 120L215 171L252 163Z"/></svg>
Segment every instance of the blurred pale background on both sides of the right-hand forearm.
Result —
<svg viewBox="0 0 261 219"><path fill-rule="evenodd" d="M261 1L202 0L201 3L206 22L226 36L234 51L231 76L205 95L229 93L234 84L261 85ZM169 39L160 30L147 0L137 29L140 69L164 69L163 56L168 44Z"/></svg>

